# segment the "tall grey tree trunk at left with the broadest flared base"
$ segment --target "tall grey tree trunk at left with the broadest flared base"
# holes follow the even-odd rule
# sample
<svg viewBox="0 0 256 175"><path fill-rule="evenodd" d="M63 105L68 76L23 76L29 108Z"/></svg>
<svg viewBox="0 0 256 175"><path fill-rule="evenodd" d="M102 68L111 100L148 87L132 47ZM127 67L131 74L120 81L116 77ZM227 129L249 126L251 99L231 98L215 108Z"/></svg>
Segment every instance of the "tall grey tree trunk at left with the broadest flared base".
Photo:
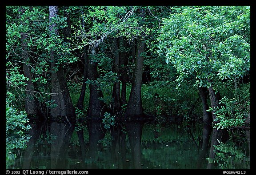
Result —
<svg viewBox="0 0 256 175"><path fill-rule="evenodd" d="M58 15L58 6L49 6L50 20L50 37L58 35L56 23L52 22L52 18ZM56 67L56 53L51 53L51 70L52 70L52 100L57 106L50 109L51 119L61 117L63 119L73 120L75 118L75 110L69 95L66 78L62 66Z"/></svg>

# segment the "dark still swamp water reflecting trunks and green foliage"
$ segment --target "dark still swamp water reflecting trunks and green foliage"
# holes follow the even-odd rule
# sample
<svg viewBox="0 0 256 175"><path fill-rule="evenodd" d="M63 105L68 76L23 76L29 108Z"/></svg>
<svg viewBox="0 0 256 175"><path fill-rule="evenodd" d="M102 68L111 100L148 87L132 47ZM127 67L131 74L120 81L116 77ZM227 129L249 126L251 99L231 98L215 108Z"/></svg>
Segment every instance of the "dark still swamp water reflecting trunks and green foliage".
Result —
<svg viewBox="0 0 256 175"><path fill-rule="evenodd" d="M243 129L229 131L211 151L212 127L203 124L127 121L104 134L100 121L90 121L82 147L69 123L30 125L27 148L7 169L250 169L250 133Z"/></svg>

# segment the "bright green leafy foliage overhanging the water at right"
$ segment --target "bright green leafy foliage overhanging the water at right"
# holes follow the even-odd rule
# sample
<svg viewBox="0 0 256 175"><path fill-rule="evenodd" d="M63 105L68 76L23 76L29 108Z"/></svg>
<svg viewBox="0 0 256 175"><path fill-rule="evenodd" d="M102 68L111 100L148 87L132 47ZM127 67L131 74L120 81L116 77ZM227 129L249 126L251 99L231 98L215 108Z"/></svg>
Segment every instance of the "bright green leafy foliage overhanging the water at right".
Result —
<svg viewBox="0 0 256 175"><path fill-rule="evenodd" d="M250 84L240 86L250 75L250 7L188 6L173 11L163 19L158 52L176 68L177 88L183 81L216 91L233 88L235 97L224 95L223 106L215 109L220 120L216 127L243 125L250 103ZM240 95L243 91L246 95Z"/></svg>

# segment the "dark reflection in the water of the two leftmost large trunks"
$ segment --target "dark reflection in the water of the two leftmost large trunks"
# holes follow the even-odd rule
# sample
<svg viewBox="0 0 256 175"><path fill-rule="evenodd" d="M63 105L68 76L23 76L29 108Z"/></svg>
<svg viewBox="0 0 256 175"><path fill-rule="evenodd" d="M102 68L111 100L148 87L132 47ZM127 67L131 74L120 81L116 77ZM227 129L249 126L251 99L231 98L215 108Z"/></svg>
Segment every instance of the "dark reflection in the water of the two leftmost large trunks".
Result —
<svg viewBox="0 0 256 175"><path fill-rule="evenodd" d="M50 164L45 164L40 168L61 169L65 167L68 145L74 127L69 123L47 123L46 121L30 123L30 126L32 128L29 134L32 137L22 157L22 169L38 168L39 165L33 161L35 157L38 161L50 159Z"/></svg>

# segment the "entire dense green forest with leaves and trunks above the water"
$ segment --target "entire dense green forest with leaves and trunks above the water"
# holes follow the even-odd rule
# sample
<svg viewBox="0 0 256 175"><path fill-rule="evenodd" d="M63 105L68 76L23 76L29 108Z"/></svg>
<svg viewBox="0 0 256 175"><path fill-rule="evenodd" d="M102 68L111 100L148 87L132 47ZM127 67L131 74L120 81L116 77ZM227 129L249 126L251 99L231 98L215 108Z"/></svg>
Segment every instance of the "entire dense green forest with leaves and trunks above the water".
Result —
<svg viewBox="0 0 256 175"><path fill-rule="evenodd" d="M190 126L202 122L198 88L222 97L214 127L248 126L250 6L6 6L10 149L28 141L28 118L54 110L76 131L91 114L108 130L142 101L156 124Z"/></svg>

